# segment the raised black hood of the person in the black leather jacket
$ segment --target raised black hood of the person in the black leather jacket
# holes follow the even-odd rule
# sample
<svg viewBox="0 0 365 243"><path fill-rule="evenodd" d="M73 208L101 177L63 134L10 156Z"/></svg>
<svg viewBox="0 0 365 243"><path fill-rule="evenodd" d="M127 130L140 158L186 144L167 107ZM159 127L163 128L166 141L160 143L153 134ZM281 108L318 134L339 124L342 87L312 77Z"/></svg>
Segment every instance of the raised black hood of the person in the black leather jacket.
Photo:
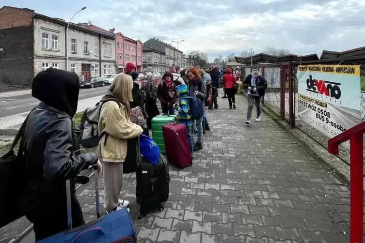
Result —
<svg viewBox="0 0 365 243"><path fill-rule="evenodd" d="M74 117L79 100L80 81L76 73L48 68L32 83L32 96Z"/></svg>

